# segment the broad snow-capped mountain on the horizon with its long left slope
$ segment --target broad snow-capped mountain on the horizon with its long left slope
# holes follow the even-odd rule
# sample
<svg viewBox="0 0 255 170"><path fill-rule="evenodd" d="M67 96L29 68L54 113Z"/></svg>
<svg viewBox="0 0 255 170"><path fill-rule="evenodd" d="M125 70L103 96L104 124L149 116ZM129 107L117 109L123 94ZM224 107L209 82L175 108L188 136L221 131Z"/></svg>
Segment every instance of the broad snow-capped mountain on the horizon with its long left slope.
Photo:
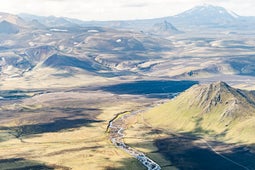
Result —
<svg viewBox="0 0 255 170"><path fill-rule="evenodd" d="M151 30L155 24L171 23L180 30L190 28L221 28L221 29L253 29L255 17L239 16L223 7L213 5L201 5L180 13L156 19L130 20L130 21L106 21L83 22L83 25L113 26L115 28L133 28ZM121 23L121 24L120 24ZM173 29L174 30L174 29Z"/></svg>

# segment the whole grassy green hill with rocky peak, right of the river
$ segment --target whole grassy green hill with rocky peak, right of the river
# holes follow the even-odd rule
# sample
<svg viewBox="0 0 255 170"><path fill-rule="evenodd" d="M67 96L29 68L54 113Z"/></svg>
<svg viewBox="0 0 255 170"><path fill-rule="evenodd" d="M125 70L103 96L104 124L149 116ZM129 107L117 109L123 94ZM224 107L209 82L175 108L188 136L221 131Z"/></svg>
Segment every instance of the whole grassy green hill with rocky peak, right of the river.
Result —
<svg viewBox="0 0 255 170"><path fill-rule="evenodd" d="M255 94L224 82L194 85L145 117L156 127L254 142Z"/></svg>

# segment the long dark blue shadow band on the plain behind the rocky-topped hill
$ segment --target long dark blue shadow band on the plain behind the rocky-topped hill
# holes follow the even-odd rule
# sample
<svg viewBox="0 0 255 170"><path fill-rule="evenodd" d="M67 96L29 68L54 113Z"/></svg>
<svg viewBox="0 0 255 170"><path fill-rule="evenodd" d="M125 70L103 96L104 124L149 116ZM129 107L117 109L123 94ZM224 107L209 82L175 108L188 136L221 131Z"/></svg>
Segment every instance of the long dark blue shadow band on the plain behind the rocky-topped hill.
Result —
<svg viewBox="0 0 255 170"><path fill-rule="evenodd" d="M115 94L143 95L149 98L172 98L198 81L144 80L99 87Z"/></svg>

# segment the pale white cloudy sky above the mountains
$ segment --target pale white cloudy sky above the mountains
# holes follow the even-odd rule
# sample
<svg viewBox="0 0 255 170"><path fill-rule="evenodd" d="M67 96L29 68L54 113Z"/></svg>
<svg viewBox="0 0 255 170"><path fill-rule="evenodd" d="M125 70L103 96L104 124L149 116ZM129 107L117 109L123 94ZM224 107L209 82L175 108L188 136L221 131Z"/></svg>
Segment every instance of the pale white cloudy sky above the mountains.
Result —
<svg viewBox="0 0 255 170"><path fill-rule="evenodd" d="M118 20L171 16L203 3L223 6L239 15L255 16L255 0L0 0L0 11Z"/></svg>

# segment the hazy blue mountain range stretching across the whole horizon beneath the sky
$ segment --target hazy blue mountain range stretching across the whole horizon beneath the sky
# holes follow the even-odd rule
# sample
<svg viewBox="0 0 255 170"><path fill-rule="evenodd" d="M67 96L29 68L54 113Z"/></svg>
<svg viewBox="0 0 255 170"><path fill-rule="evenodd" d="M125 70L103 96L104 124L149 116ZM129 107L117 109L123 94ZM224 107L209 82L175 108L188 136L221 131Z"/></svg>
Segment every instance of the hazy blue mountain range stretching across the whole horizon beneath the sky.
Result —
<svg viewBox="0 0 255 170"><path fill-rule="evenodd" d="M45 29L47 27L98 26L163 35L181 33L191 29L252 30L255 28L255 17L239 16L223 7L213 5L196 6L175 16L127 21L82 21L66 17L44 17L31 14L16 16L7 13L0 13L0 16L0 32L8 34L17 33L18 30L26 27Z"/></svg>

